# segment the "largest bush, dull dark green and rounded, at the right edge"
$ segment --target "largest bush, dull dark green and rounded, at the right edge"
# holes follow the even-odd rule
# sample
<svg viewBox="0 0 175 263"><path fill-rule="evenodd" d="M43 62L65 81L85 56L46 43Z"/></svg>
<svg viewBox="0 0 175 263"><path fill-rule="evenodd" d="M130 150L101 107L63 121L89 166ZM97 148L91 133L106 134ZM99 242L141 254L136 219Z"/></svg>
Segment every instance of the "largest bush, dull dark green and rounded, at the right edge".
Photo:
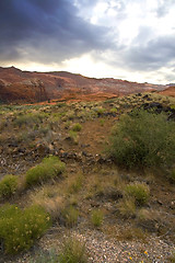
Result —
<svg viewBox="0 0 175 263"><path fill-rule="evenodd" d="M175 123L165 114L136 110L113 129L110 157L127 168L172 165L175 159Z"/></svg>

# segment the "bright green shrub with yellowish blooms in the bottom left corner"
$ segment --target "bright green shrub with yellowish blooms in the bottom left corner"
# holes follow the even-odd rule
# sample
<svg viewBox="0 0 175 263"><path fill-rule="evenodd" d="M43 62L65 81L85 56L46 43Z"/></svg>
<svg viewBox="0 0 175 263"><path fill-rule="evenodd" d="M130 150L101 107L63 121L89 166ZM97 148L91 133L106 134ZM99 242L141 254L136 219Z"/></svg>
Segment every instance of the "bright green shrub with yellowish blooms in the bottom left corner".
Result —
<svg viewBox="0 0 175 263"><path fill-rule="evenodd" d="M30 249L49 226L48 214L38 206L22 210L7 204L0 208L0 240L5 253L15 254Z"/></svg>

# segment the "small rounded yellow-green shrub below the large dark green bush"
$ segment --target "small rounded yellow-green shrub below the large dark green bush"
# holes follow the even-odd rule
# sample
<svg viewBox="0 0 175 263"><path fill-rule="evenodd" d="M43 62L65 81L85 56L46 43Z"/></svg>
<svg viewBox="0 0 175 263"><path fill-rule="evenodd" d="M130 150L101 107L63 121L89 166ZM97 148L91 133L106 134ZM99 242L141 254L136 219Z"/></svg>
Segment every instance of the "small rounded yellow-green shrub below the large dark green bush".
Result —
<svg viewBox="0 0 175 263"><path fill-rule="evenodd" d="M126 185L125 193L128 197L132 197L139 206L145 205L150 197L150 188L144 183L130 183Z"/></svg>

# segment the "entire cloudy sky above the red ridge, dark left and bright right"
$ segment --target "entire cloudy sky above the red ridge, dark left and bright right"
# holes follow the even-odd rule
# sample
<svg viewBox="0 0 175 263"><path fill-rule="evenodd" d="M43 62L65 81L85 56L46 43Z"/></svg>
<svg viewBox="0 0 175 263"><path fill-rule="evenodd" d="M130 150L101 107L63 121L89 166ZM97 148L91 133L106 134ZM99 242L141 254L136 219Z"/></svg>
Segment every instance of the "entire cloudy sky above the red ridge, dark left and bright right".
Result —
<svg viewBox="0 0 175 263"><path fill-rule="evenodd" d="M175 82L175 0L0 0L0 66Z"/></svg>

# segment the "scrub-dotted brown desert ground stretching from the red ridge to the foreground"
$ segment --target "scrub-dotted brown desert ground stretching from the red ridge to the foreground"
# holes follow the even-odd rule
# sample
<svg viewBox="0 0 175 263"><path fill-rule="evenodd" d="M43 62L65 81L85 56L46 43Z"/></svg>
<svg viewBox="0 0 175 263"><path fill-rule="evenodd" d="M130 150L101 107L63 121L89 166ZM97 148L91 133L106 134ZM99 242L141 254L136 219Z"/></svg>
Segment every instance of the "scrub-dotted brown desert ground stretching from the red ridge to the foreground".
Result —
<svg viewBox="0 0 175 263"><path fill-rule="evenodd" d="M126 240L128 245L131 240L139 241L143 249L150 241L163 241L155 247L154 255L152 250L140 252L133 244L136 258L126 253L126 261L158 260L158 251L163 251L160 259L164 261L167 249L170 255L175 235L174 121L167 121L168 112L137 108L150 102L174 108L175 99L144 95L130 94L105 102L0 105L2 261L7 261L5 253L26 251L37 240L36 247L27 251L30 263L86 262L72 255L80 254L75 247L73 252L61 250L60 243L72 236L86 241L90 261L94 262L95 249L98 261L103 254L108 261L108 251L114 258L110 244L115 248L115 240L120 240L126 251ZM109 155L104 152L105 144ZM12 206L4 205L7 198ZM2 209L9 211L1 216ZM39 240L51 225L50 218L54 226ZM20 230L13 232L13 228ZM30 231L34 235L30 236ZM106 244L104 252L101 248ZM78 250L83 254L82 248ZM26 261L25 254L18 256Z"/></svg>

